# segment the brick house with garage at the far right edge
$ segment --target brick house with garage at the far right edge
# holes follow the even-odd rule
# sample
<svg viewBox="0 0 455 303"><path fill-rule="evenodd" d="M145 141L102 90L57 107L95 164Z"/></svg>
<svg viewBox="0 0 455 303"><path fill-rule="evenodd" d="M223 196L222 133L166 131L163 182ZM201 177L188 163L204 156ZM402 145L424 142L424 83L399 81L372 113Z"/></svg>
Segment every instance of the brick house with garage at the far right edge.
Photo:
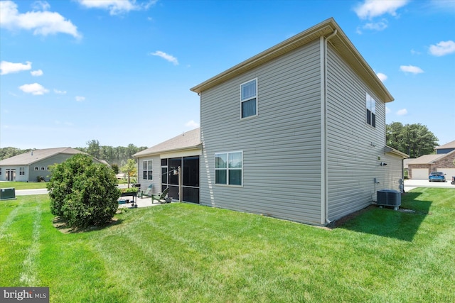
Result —
<svg viewBox="0 0 455 303"><path fill-rule="evenodd" d="M455 176L455 141L435 148L436 155L422 155L408 163L409 177L414 180L428 180L430 172L444 172L446 180Z"/></svg>

